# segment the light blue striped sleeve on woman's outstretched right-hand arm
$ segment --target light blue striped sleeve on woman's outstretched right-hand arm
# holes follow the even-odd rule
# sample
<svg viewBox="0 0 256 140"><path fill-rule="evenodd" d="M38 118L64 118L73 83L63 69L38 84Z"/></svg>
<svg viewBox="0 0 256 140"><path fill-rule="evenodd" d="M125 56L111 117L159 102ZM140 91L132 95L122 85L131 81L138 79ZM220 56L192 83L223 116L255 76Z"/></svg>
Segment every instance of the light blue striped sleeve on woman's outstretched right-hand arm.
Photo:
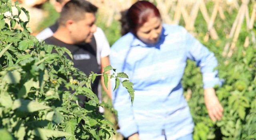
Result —
<svg viewBox="0 0 256 140"><path fill-rule="evenodd" d="M218 71L215 68L218 62L212 52L202 45L196 38L186 32L186 48L187 57L196 61L197 66L200 66L200 70L203 76L204 88L213 88L216 85L221 85L218 78Z"/></svg>

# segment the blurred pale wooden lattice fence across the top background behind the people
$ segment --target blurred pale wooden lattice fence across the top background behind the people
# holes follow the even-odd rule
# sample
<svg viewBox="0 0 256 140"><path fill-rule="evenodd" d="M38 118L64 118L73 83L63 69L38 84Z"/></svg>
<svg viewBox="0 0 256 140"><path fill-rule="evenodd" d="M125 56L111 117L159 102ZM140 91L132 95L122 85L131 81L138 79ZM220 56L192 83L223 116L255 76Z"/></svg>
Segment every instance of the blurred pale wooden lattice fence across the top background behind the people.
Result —
<svg viewBox="0 0 256 140"><path fill-rule="evenodd" d="M110 26L114 18L120 18L120 11L129 8L137 0L89 0L96 6L100 7L99 13L102 14L106 22L106 26ZM155 2L162 15L164 23L179 24L181 18L185 22L185 28L190 32L194 31L195 21L198 13L201 12L204 21L208 25L206 30L204 41L207 42L209 38L213 40L218 39L218 33L215 30L215 20L217 15L221 20L225 20L224 12L234 14L233 12L238 10L236 19L233 21L233 25L230 31L228 31L227 38L232 40L226 43L224 46L223 56L230 57L236 46L242 24L244 19L246 20L246 26L248 32L253 28L256 18L256 2L255 0L149 0ZM213 3L213 10L209 11L206 7L208 2ZM249 12L249 5L253 5L252 12ZM209 14L211 13L211 14ZM246 37L244 47L247 47L250 42L255 42L255 35L251 31L252 39L249 40L249 36Z"/></svg>

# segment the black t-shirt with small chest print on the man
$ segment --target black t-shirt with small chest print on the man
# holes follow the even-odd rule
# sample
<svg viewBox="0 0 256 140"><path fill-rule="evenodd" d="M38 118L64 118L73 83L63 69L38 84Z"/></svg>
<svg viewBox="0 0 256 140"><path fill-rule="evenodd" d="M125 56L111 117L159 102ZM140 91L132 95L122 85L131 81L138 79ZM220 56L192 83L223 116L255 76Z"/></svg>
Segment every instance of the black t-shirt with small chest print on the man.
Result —
<svg viewBox="0 0 256 140"><path fill-rule="evenodd" d="M92 43L82 43L82 44L66 44L53 36L44 40L46 44L51 44L60 47L66 47L70 50L73 55L74 67L83 71L87 76L92 72L100 74L100 66L97 63L96 56L96 44L94 37L92 38ZM55 51L55 50L53 50ZM66 53L65 53L66 54ZM67 58L70 58L68 54L66 54ZM71 59L71 58L70 58ZM100 76L97 76L94 83L92 84L92 91L98 95L98 84L100 81ZM85 99L84 99L85 100ZM83 106L83 105L81 105Z"/></svg>

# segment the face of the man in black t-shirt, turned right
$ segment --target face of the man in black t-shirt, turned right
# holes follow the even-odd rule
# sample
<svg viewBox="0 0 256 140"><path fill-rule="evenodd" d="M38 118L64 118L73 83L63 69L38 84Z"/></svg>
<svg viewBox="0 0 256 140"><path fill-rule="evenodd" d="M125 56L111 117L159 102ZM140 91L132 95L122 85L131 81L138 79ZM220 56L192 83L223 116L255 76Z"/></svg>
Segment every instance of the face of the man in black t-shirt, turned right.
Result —
<svg viewBox="0 0 256 140"><path fill-rule="evenodd" d="M90 43L92 41L93 33L96 32L96 17L94 13L85 13L85 19L74 22L70 30L70 37L73 42Z"/></svg>

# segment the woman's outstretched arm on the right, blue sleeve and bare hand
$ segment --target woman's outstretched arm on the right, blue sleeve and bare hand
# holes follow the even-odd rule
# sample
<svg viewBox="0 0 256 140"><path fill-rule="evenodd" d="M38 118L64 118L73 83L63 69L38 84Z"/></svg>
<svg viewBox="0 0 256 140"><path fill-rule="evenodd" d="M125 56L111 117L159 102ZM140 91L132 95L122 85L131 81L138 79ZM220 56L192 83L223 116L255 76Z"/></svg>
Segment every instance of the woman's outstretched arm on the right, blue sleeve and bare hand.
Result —
<svg viewBox="0 0 256 140"><path fill-rule="evenodd" d="M196 61L202 72L204 100L208 114L213 121L220 120L223 115L223 107L214 90L214 86L221 84L218 71L215 70L218 62L214 54L188 32L186 32L186 47L188 48L188 58Z"/></svg>

